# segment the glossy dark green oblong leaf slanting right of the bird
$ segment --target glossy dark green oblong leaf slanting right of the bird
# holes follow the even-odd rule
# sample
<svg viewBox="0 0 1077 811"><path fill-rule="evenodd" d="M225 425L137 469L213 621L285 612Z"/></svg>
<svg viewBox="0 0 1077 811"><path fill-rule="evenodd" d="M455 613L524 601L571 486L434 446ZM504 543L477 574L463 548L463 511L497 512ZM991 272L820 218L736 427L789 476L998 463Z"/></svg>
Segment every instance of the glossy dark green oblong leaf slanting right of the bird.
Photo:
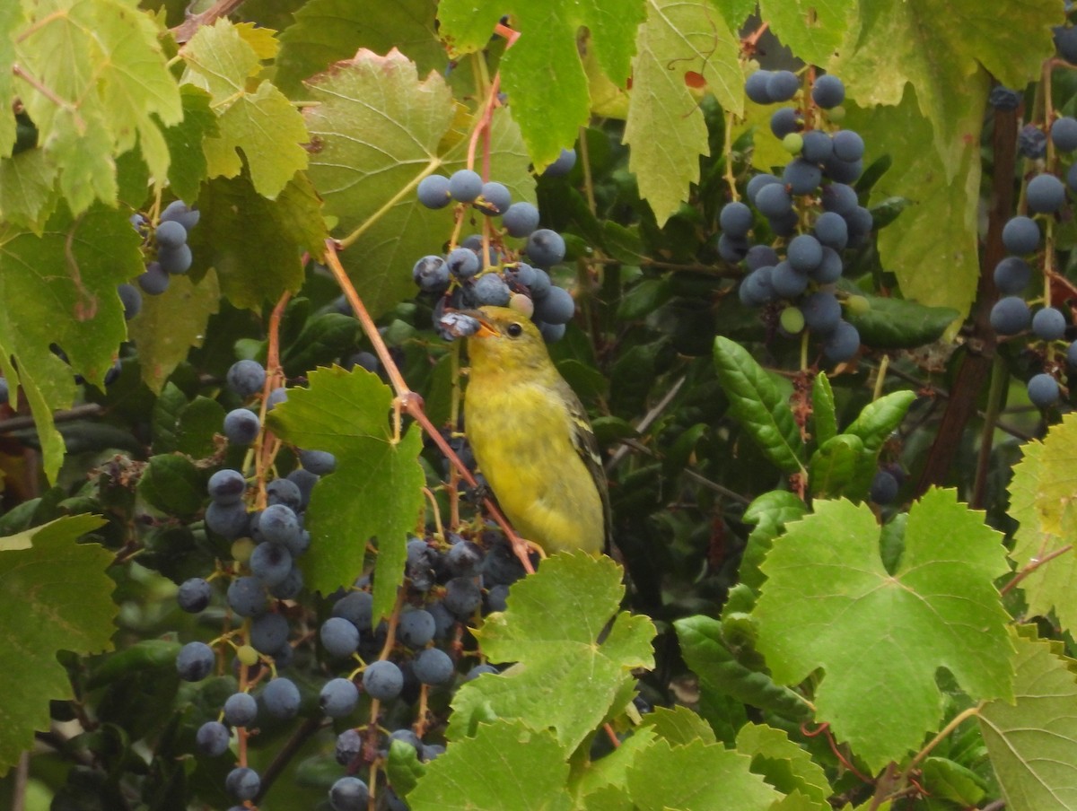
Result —
<svg viewBox="0 0 1077 811"><path fill-rule="evenodd" d="M788 403L766 370L739 344L714 339L714 368L729 397L729 413L771 462L785 473L803 470L803 442Z"/></svg>

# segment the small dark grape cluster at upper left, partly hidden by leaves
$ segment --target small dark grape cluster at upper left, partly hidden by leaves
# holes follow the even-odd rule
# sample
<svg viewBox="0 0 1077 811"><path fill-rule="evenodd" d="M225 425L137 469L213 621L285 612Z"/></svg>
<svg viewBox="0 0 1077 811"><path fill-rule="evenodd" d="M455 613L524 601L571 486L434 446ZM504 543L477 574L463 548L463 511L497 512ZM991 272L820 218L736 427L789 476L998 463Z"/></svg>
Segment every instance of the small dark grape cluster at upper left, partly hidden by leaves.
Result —
<svg viewBox="0 0 1077 811"><path fill-rule="evenodd" d="M143 251L153 258L146 263L145 271L138 277L138 288L121 284L117 292L124 305L124 318L130 320L142 309L142 293L156 296L168 290L171 274L185 274L191 269L191 246L187 235L198 224L198 209L191 208L183 200L172 200L160 212L157 226L141 213L130 216L131 226L143 240ZM141 292L140 290L141 289Z"/></svg>

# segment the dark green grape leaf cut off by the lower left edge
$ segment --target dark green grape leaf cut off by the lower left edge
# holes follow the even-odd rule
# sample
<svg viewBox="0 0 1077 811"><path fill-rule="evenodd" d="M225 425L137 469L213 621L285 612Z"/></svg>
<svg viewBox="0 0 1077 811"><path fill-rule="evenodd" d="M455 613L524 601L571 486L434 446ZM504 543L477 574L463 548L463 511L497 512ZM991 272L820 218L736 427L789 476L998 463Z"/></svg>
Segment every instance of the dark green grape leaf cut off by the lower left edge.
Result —
<svg viewBox="0 0 1077 811"><path fill-rule="evenodd" d="M113 554L76 543L104 525L94 515L58 518L4 539L0 550L0 775L34 730L48 729L48 702L74 698L58 651L111 648L115 586L106 574ZM31 546L25 547L29 541ZM22 548L14 548L22 547Z"/></svg>

